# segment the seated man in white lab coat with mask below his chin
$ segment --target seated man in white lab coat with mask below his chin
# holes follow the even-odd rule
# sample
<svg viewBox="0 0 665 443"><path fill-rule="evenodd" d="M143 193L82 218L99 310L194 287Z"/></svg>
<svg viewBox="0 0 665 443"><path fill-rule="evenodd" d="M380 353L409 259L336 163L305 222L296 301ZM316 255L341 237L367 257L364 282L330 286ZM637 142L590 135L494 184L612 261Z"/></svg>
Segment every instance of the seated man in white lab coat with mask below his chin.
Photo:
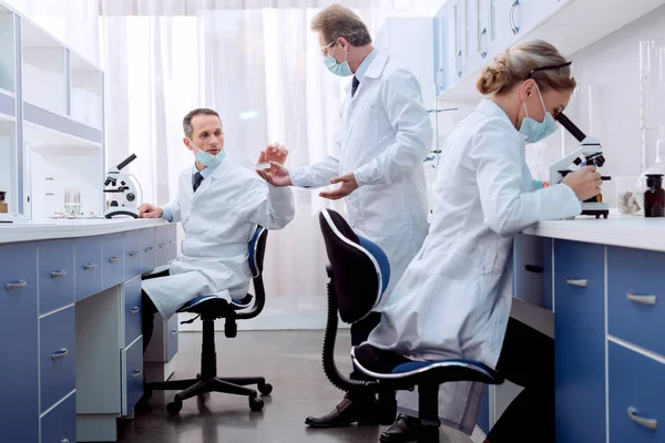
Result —
<svg viewBox="0 0 665 443"><path fill-rule="evenodd" d="M273 187L225 158L222 121L215 111L190 112L183 130L195 162L181 174L176 197L162 207L139 208L143 218L182 222L185 230L182 255L171 264L168 276L143 281L144 350L156 312L168 319L202 295L228 301L245 297L252 279L247 245L256 226L282 229L295 214L289 188ZM284 164L288 151L277 147L263 152L260 159Z"/></svg>

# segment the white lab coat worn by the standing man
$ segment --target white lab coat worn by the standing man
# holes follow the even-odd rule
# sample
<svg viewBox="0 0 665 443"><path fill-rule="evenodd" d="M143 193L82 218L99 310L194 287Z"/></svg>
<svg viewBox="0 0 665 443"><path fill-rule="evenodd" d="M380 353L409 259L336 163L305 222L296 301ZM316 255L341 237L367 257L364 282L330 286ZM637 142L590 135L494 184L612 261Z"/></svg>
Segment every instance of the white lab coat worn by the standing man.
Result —
<svg viewBox="0 0 665 443"><path fill-rule="evenodd" d="M290 174L295 186L316 188L354 172L359 187L345 199L349 225L390 261L390 286L377 311L427 236L422 162L432 134L418 80L378 50L354 97L347 87L337 155Z"/></svg>

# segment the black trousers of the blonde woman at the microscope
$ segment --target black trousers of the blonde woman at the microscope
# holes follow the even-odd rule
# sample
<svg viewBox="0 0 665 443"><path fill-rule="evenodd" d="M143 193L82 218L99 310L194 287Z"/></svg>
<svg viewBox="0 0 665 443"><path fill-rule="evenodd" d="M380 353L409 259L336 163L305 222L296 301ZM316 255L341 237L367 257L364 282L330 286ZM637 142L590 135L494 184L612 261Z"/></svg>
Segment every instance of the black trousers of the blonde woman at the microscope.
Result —
<svg viewBox="0 0 665 443"><path fill-rule="evenodd" d="M490 443L554 442L554 340L510 319L497 371L524 390L492 426Z"/></svg>

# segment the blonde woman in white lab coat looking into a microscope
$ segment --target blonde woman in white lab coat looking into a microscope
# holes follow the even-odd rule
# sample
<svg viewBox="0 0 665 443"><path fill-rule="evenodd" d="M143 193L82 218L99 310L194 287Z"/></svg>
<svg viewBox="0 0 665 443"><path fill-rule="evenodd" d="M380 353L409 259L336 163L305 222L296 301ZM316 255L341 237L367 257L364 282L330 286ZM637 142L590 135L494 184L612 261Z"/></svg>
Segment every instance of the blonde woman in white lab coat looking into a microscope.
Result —
<svg viewBox="0 0 665 443"><path fill-rule="evenodd" d="M553 116L575 87L570 63L555 48L543 41L519 44L487 65L477 85L485 100L448 137L441 154L446 167L433 184L430 234L368 342L379 354L463 358L497 368L525 389L488 441L550 442L553 342L510 318L513 237L540 220L580 215L580 202L597 195L602 181L589 166L562 184L532 189L524 145L556 131ZM444 384L440 412L446 424L470 434L482 389ZM415 441L418 424L400 415L381 441Z"/></svg>

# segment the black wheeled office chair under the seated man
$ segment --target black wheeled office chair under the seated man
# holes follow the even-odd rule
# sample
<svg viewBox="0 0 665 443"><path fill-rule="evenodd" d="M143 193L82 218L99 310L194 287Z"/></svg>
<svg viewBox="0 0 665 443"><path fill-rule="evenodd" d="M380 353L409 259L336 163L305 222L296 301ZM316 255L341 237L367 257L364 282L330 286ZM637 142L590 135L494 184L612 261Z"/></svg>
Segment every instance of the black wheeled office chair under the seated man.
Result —
<svg viewBox="0 0 665 443"><path fill-rule="evenodd" d="M249 268L254 276L255 296L248 293L242 300L233 300L231 303L214 296L201 296L190 300L177 310L177 312L198 315L192 320L183 321L183 323L192 322L201 317L203 321L203 346L201 349L201 373L196 375L196 379L170 380L145 384L146 398L150 398L152 391L183 390L175 394L172 403L166 405L166 410L171 415L177 415L183 408L183 400L208 392L246 395L249 398L249 408L252 411L260 411L264 406L264 401L258 398L255 390L244 387L256 384L262 395L269 395L273 392L273 387L266 383L263 377L217 377L214 323L216 319L225 319L224 333L228 338L234 338L238 331L236 320L253 319L264 309L266 295L262 272L268 230L259 226L249 243ZM249 307L252 309L244 310Z"/></svg>

